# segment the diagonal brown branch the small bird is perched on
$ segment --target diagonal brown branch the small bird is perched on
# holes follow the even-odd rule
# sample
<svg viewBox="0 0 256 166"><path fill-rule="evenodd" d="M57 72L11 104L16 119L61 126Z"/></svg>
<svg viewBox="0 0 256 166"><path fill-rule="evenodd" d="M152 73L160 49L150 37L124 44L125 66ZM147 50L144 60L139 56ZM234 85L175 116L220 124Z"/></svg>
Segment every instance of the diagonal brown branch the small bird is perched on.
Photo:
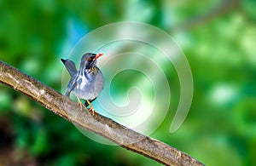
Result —
<svg viewBox="0 0 256 166"><path fill-rule="evenodd" d="M141 135L125 126L115 123L108 117L90 115L84 108L83 112L76 102L38 82L35 78L9 66L0 60L0 82L20 91L45 106L49 111L66 118L82 129L90 130L97 135L112 140L119 146L146 157L153 158L166 165L203 165L193 157L168 146L159 140Z"/></svg>

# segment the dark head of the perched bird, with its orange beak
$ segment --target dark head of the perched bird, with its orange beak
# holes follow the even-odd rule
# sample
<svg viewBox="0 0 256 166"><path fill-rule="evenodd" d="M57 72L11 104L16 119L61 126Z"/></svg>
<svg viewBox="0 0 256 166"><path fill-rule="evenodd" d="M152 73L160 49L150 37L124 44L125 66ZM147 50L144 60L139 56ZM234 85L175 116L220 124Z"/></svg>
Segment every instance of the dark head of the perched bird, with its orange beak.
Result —
<svg viewBox="0 0 256 166"><path fill-rule="evenodd" d="M93 54L93 53L86 53L83 55L81 59L80 67L84 69L91 69L96 67L96 60L102 56L102 54Z"/></svg>

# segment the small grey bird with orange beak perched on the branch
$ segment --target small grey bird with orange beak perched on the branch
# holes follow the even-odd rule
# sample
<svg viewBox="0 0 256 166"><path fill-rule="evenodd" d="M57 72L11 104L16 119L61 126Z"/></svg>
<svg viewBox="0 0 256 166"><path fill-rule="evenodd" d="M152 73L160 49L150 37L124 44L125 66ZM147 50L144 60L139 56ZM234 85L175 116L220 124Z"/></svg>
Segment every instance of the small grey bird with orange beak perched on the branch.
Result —
<svg viewBox="0 0 256 166"><path fill-rule="evenodd" d="M70 81L67 84L66 96L69 97L71 92L77 97L80 108L82 106L90 106L89 112L92 115L96 113L91 102L96 100L97 96L102 92L104 85L104 77L102 71L96 66L97 59L102 54L86 53L82 56L79 70L72 60L61 59L67 72L70 75ZM85 100L84 105L81 100Z"/></svg>

